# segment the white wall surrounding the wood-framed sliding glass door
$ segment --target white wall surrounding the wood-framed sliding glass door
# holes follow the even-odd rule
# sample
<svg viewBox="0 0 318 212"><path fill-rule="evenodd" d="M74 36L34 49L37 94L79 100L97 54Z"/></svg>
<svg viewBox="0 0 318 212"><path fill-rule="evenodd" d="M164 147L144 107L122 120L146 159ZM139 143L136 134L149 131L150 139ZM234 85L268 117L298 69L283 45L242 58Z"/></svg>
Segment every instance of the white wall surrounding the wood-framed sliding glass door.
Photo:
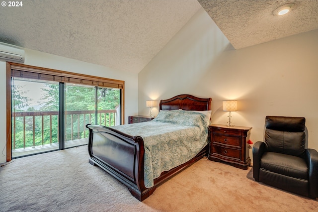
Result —
<svg viewBox="0 0 318 212"><path fill-rule="evenodd" d="M138 111L138 75L123 72L116 69L47 54L31 49L25 49L26 65L50 68L55 70L74 72L116 80L125 81L125 123L128 123L128 115L136 114ZM0 163L6 161L6 103L5 103L5 62L0 61ZM3 150L3 151L2 151Z"/></svg>

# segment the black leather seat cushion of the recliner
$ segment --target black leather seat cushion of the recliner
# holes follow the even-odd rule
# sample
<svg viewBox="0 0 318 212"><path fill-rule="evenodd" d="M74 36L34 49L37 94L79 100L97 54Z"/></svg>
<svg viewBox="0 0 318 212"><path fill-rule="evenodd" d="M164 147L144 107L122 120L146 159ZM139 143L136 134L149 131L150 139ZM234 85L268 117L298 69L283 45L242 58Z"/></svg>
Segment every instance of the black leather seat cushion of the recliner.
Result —
<svg viewBox="0 0 318 212"><path fill-rule="evenodd" d="M265 152L260 164L261 169L308 180L308 166L303 158L277 152Z"/></svg>

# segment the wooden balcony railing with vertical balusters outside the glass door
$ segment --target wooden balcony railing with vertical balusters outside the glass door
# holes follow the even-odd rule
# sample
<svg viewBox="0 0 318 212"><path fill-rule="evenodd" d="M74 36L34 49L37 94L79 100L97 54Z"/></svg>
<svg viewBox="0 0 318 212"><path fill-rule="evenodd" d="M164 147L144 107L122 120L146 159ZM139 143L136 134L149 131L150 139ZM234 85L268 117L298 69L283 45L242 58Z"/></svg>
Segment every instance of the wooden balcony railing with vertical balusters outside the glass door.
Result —
<svg viewBox="0 0 318 212"><path fill-rule="evenodd" d="M118 125L120 118L116 117L119 111L116 109L98 110L97 111L97 124L105 126ZM36 117L40 117L41 121L36 121ZM16 133L23 130L23 147L35 147L36 146L36 130L41 132L41 145L52 144L52 130L56 127L57 136L54 140L58 142L59 137L59 111L23 111L23 112L12 112L12 150L16 149ZM117 120L118 119L118 120ZM27 121L28 120L28 121ZM31 121L30 121L31 120ZM38 120L38 119L37 119ZM76 139L87 138L88 130L86 129L87 123L94 124L95 111L94 110L72 110L65 112L65 141ZM93 121L93 122L92 122ZM53 123L54 122L54 123ZM39 124L40 123L40 124ZM19 124L19 129L17 129ZM22 125L22 126L21 126ZM40 126L39 126L40 125ZM26 145L26 128L33 132L33 145ZM40 128L40 129L39 129ZM50 135L49 140L45 141L44 132L49 128ZM21 137L21 136L20 136ZM19 140L18 142L21 142ZM19 145L21 146L21 145ZM18 147L21 148L21 147Z"/></svg>

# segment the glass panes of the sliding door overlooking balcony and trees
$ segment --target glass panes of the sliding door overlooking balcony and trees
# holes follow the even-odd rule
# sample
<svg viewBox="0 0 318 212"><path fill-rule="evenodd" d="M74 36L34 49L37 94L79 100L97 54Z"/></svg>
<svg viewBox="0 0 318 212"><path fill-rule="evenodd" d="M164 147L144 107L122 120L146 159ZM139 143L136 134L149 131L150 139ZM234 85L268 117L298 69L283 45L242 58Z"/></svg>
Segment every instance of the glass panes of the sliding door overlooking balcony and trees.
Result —
<svg viewBox="0 0 318 212"><path fill-rule="evenodd" d="M120 89L13 78L12 157L87 144L86 124L121 123L120 100Z"/></svg>

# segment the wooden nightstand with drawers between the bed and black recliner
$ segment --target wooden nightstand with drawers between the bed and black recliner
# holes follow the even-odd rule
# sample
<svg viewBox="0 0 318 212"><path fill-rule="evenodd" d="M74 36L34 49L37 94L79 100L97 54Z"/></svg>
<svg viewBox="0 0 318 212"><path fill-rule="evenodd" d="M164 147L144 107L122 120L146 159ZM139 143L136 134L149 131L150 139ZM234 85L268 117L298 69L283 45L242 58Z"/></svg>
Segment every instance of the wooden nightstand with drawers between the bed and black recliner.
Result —
<svg viewBox="0 0 318 212"><path fill-rule="evenodd" d="M249 140L252 127L227 127L222 124L209 126L210 154L213 161L225 161L231 165L247 169L250 165Z"/></svg>

